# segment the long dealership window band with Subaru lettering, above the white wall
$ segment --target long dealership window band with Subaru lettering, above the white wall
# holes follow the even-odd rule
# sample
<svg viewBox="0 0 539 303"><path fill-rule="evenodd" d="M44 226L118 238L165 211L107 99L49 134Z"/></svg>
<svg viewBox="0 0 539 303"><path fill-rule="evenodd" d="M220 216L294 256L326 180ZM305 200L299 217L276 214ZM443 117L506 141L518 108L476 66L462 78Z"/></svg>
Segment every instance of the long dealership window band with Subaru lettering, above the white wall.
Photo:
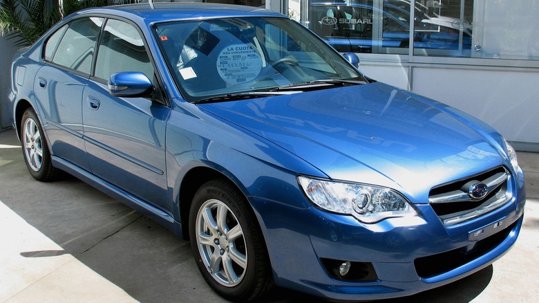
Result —
<svg viewBox="0 0 539 303"><path fill-rule="evenodd" d="M288 0L288 15L342 53L539 59L539 0Z"/></svg>

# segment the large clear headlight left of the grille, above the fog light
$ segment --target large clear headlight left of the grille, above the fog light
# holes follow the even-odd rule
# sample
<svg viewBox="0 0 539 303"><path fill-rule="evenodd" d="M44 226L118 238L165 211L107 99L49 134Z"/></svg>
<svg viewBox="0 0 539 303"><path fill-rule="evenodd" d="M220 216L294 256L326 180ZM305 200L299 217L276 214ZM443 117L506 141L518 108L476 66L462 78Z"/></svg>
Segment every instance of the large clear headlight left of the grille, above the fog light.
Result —
<svg viewBox="0 0 539 303"><path fill-rule="evenodd" d="M298 177L310 201L323 210L351 214L363 223L391 217L413 217L417 212L398 192L386 187Z"/></svg>

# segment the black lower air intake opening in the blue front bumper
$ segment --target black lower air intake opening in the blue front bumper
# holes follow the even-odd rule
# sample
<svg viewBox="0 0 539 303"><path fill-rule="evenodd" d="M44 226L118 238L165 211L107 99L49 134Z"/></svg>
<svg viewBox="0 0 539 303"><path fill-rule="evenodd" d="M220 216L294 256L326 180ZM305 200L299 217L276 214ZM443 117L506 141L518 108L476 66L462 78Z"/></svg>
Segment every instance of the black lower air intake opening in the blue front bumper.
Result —
<svg viewBox="0 0 539 303"><path fill-rule="evenodd" d="M437 255L415 259L414 265L417 275L422 278L435 277L485 255L507 239L509 233L511 230L515 229L517 224L518 221L491 237L477 241L474 249L469 252L468 249L464 247L449 250L448 252L442 252Z"/></svg>

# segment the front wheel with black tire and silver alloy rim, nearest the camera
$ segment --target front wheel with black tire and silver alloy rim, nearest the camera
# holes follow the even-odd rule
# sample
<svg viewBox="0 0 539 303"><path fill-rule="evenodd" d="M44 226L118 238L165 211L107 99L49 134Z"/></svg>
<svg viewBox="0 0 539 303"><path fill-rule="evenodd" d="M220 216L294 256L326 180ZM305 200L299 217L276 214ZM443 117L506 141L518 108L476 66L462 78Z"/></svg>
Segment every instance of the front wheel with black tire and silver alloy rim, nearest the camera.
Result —
<svg viewBox="0 0 539 303"><path fill-rule="evenodd" d="M243 194L227 181L209 181L196 192L189 236L200 273L225 299L246 302L272 288L258 221Z"/></svg>

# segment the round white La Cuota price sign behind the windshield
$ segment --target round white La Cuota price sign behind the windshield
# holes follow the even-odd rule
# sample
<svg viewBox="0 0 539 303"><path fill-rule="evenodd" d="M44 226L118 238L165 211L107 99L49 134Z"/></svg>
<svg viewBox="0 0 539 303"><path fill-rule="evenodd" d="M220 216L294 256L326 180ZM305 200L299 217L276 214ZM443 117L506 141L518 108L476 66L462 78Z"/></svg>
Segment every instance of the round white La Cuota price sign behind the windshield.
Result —
<svg viewBox="0 0 539 303"><path fill-rule="evenodd" d="M219 53L217 71L228 84L254 80L262 69L262 57L252 44L232 44Z"/></svg>

